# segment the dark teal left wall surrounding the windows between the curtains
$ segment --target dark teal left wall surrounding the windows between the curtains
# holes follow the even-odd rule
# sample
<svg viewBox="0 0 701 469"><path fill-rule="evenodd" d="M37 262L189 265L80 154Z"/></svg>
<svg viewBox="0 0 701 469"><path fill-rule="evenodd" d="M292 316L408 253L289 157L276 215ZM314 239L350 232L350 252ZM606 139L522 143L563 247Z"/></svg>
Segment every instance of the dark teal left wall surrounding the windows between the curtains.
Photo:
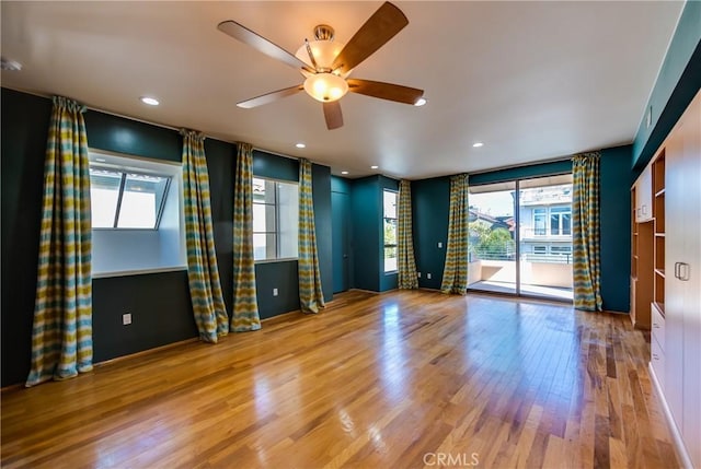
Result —
<svg viewBox="0 0 701 469"><path fill-rule="evenodd" d="M44 155L51 113L50 99L2 89L2 309L1 386L26 378L36 289L36 265L44 180ZM177 131L113 115L84 114L93 149L173 162L181 161ZM235 144L205 140L209 171L217 262L227 308L231 310L232 219ZM297 180L296 160L256 151L254 174ZM317 248L324 298L332 298L331 169L313 165ZM297 262L256 265L261 317L299 308ZM274 297L274 288L279 295ZM122 326L122 314L134 323ZM197 337L186 271L100 278L93 280L94 361L148 350Z"/></svg>

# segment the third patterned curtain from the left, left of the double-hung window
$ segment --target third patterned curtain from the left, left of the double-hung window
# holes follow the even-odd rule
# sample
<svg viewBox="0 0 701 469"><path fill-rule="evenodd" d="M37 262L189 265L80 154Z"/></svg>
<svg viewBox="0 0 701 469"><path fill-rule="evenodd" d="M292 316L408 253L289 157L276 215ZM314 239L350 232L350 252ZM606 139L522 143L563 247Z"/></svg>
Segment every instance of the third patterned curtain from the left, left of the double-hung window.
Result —
<svg viewBox="0 0 701 469"><path fill-rule="evenodd" d="M253 260L253 146L238 143L233 184L233 314L231 330L258 330Z"/></svg>

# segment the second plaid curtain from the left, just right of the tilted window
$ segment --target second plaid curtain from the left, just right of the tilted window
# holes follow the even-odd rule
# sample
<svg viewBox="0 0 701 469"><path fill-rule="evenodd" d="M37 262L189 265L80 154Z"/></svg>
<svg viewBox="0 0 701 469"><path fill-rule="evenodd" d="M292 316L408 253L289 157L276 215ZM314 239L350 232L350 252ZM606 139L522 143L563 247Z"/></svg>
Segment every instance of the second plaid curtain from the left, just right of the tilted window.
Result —
<svg viewBox="0 0 701 469"><path fill-rule="evenodd" d="M184 129L181 134L189 296L199 338L205 342L217 343L219 336L229 332L229 317L217 268L205 137Z"/></svg>

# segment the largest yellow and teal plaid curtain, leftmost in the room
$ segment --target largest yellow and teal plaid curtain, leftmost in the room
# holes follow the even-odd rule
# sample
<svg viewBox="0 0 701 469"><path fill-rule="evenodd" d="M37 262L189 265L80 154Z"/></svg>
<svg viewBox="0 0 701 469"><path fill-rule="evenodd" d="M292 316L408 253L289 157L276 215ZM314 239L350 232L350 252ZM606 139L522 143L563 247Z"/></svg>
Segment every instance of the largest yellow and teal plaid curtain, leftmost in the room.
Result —
<svg viewBox="0 0 701 469"><path fill-rule="evenodd" d="M92 224L83 112L54 97L26 386L92 370Z"/></svg>

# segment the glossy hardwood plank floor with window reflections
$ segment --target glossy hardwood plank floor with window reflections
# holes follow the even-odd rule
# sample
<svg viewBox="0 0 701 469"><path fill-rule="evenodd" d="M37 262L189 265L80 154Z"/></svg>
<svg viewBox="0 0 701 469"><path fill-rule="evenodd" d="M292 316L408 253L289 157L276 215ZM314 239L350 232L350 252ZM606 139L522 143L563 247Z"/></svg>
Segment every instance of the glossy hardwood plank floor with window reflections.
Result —
<svg viewBox="0 0 701 469"><path fill-rule="evenodd" d="M2 466L678 467L624 315L350 292L2 395Z"/></svg>

